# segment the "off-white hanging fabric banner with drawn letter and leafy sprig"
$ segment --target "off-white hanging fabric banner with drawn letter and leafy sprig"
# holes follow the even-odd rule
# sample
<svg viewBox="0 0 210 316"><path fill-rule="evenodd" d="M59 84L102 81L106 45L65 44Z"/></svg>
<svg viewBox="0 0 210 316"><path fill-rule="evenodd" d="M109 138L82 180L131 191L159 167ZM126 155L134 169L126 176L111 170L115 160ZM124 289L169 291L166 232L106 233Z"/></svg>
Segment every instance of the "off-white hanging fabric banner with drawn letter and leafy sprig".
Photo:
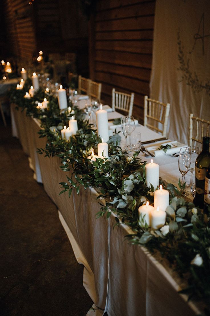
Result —
<svg viewBox="0 0 210 316"><path fill-rule="evenodd" d="M171 104L172 140L188 144L190 113L210 120L209 0L156 0L150 97Z"/></svg>

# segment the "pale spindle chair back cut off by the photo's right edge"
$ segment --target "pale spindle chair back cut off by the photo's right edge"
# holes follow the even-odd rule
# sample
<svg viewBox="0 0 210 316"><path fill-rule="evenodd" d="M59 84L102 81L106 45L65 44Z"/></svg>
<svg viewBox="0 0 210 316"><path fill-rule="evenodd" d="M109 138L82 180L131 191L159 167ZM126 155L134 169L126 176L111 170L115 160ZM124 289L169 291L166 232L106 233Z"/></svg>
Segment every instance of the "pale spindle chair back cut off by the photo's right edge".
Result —
<svg viewBox="0 0 210 316"><path fill-rule="evenodd" d="M210 121L200 119L190 113L189 146L194 145L195 142L202 144L204 136L210 137L209 126Z"/></svg>

